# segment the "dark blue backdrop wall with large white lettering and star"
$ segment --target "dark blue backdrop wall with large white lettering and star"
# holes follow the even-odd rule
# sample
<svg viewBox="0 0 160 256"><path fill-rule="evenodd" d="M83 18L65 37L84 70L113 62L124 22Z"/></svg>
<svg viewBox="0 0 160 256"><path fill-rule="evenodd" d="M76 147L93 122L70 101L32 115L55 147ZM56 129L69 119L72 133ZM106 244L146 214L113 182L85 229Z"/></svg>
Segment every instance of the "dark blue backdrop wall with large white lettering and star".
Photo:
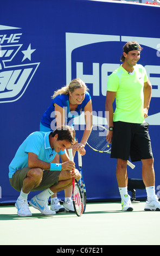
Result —
<svg viewBox="0 0 160 256"><path fill-rule="evenodd" d="M0 203L15 202L19 195L9 184L8 166L24 139L39 130L54 90L80 77L92 96L93 122L105 124L107 77L121 64L122 47L130 40L142 45L139 63L153 86L147 121L159 196L160 7L118 1L5 0L1 9ZM76 121L78 128L82 129ZM82 131L76 135L80 138ZM119 199L116 160L87 145L86 151L82 162L87 199ZM141 179L142 164L129 167L128 175ZM137 198L145 196L145 190L137 192ZM59 197L63 199L63 191Z"/></svg>

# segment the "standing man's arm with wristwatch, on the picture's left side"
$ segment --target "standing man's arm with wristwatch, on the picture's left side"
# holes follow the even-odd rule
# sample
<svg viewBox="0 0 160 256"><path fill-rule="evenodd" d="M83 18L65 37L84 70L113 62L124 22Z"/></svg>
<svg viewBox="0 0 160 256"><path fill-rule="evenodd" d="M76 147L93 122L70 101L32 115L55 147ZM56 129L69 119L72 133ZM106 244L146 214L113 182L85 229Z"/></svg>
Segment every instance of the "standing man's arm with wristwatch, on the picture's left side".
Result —
<svg viewBox="0 0 160 256"><path fill-rule="evenodd" d="M113 127L113 102L115 100L115 97L116 97L116 92L107 91L105 108L106 108L106 118L107 118L108 128L110 126ZM106 136L108 143L112 142L112 136L113 136L113 131L108 131Z"/></svg>

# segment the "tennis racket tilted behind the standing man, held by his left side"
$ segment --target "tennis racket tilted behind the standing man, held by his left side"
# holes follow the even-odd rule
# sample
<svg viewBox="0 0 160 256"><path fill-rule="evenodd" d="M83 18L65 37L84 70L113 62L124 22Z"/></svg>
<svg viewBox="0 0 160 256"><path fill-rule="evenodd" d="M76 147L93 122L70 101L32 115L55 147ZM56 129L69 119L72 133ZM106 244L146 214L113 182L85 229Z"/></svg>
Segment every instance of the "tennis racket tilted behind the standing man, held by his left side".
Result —
<svg viewBox="0 0 160 256"><path fill-rule="evenodd" d="M106 141L107 129L102 125L93 125L92 131L87 140L87 145L99 153L111 154L111 143ZM134 169L135 165L130 161L127 164Z"/></svg>

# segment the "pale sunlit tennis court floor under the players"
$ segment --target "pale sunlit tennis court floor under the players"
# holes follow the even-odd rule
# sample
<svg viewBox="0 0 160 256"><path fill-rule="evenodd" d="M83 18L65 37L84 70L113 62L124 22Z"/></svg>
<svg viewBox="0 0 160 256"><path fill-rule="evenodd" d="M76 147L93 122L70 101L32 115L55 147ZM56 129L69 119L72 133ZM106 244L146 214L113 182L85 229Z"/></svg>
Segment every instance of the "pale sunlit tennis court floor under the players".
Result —
<svg viewBox="0 0 160 256"><path fill-rule="evenodd" d="M144 205L122 212L120 202L88 203L81 217L44 216L31 206L33 216L20 217L15 206L0 206L0 245L159 245L160 212L144 211Z"/></svg>

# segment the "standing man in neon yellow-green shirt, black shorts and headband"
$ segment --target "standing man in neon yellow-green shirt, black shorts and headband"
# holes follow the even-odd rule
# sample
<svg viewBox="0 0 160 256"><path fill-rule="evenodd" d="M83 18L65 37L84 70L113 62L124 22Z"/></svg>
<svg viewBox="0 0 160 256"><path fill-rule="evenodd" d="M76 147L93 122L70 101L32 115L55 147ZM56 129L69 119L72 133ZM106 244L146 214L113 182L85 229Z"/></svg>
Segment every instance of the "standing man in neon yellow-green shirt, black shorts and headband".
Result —
<svg viewBox="0 0 160 256"><path fill-rule="evenodd" d="M155 171L148 132L148 117L152 86L145 68L137 64L142 47L138 42L127 42L123 47L123 64L112 72L107 82L106 113L108 133L106 140L112 143L111 157L117 159L116 176L123 211L132 211L127 193L127 160L142 161L142 178L147 200L144 210L160 211L155 194ZM116 109L113 102L116 99ZM114 113L113 113L114 112Z"/></svg>

